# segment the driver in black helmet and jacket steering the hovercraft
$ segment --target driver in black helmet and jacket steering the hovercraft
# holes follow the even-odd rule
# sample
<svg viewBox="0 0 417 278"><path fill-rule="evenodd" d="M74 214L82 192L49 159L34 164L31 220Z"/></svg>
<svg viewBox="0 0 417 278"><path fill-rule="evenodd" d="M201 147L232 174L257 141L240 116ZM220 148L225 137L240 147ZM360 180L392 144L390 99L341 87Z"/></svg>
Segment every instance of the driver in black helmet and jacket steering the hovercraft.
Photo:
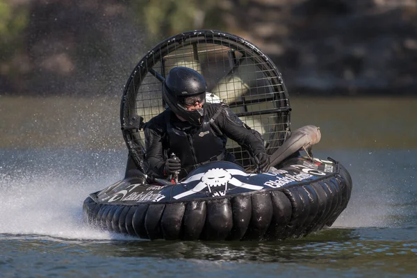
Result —
<svg viewBox="0 0 417 278"><path fill-rule="evenodd" d="M244 124L229 106L206 103L206 81L188 67L174 67L163 83L167 109L144 126L148 174L179 178L209 161L235 162L227 138L247 150L262 172L270 167L261 135ZM175 154L175 158L171 157Z"/></svg>

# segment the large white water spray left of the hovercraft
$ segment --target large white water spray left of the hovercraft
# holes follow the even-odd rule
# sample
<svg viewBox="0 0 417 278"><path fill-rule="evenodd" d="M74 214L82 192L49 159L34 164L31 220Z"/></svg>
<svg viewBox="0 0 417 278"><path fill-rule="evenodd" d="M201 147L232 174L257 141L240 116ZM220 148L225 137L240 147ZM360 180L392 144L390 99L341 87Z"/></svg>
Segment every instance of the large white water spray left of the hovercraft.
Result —
<svg viewBox="0 0 417 278"><path fill-rule="evenodd" d="M8 152L14 161L17 156L34 157L31 163L19 166L11 164L13 161L6 158L6 153L0 152L6 158L0 169L0 234L124 238L88 227L82 222L81 211L83 200L90 193L121 179L126 154L85 152L74 156L72 149L55 152L56 155L54 151L40 149ZM52 162L54 167L45 161ZM96 164L100 166L92 167Z"/></svg>

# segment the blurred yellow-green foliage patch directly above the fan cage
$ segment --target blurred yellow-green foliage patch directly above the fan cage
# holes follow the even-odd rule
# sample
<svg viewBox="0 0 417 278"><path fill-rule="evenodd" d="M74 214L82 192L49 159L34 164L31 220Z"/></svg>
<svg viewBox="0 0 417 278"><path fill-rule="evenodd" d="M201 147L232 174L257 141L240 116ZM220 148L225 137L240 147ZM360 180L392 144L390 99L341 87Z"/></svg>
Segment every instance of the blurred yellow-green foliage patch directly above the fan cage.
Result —
<svg viewBox="0 0 417 278"><path fill-rule="evenodd" d="M221 0L134 0L138 20L152 35L166 37L199 28L222 28Z"/></svg>

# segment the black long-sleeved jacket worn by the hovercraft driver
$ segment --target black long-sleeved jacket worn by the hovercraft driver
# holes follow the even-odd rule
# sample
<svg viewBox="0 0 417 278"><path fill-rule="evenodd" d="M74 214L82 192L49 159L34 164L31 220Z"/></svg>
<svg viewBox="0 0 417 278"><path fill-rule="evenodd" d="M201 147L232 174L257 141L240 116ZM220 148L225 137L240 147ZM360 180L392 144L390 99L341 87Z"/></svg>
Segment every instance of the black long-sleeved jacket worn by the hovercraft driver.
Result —
<svg viewBox="0 0 417 278"><path fill-rule="evenodd" d="M202 163L224 160L227 138L238 142L251 155L265 152L261 135L224 104L204 104L201 126L182 122L167 109L147 122L144 131L147 172L155 177L165 177L165 160L171 153L181 160L180 177Z"/></svg>

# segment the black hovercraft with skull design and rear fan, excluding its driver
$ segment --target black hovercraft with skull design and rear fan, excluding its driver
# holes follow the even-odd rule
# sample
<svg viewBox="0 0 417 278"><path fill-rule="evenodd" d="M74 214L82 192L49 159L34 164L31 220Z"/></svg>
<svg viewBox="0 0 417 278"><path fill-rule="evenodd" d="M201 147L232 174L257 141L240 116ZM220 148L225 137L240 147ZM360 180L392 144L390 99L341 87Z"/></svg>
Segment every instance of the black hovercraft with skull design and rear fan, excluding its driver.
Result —
<svg viewBox="0 0 417 278"><path fill-rule="evenodd" d="M142 127L165 109L161 81L180 65L204 76L206 101L223 101L263 135L269 172L257 172L248 152L231 141L227 150L238 164L212 161L181 181L147 176ZM281 240L331 226L349 202L352 179L341 163L313 157L320 130L307 125L291 131L290 114L281 74L251 42L212 30L163 40L124 88L126 176L90 194L83 218L93 227L151 240Z"/></svg>

